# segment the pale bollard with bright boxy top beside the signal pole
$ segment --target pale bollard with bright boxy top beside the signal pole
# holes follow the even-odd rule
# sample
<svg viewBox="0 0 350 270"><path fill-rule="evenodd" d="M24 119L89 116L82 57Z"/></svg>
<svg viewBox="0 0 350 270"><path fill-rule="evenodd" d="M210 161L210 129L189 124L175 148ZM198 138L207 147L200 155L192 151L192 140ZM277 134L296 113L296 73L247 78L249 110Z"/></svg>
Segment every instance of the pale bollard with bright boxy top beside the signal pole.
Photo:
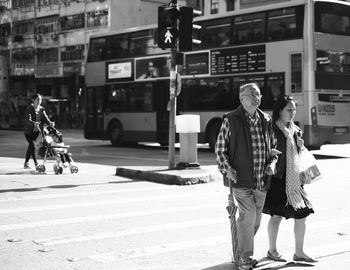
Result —
<svg viewBox="0 0 350 270"><path fill-rule="evenodd" d="M200 132L199 115L176 116L176 132L180 134L180 162L176 167L199 167L197 162L197 141L198 132Z"/></svg>

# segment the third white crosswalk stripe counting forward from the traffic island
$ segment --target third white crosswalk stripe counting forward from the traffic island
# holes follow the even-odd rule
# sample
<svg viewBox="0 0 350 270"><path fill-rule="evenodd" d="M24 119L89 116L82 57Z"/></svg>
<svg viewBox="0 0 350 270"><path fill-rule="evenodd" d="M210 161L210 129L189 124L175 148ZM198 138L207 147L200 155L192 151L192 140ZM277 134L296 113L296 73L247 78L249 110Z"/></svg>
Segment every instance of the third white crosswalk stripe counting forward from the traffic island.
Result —
<svg viewBox="0 0 350 270"><path fill-rule="evenodd" d="M206 209L208 208L215 209L218 207L222 207L222 204L209 204L209 205L205 205L205 207ZM45 226L53 226L53 225L64 225L64 224L72 224L72 223L82 223L82 222L96 222L96 221L108 220L108 219L120 219L120 218L129 218L129 217L137 217L137 216L167 214L171 212L191 211L191 210L203 210L203 204L198 206L182 206L182 207L172 207L172 208L148 210L148 211L141 210L141 211L120 213L120 214L113 214L113 215L96 215L96 216L86 216L86 217L78 217L78 218L65 218L65 219L53 219L53 220L33 221L33 222L25 222L25 223L13 223L13 224L0 225L0 231L21 230L21 229L29 229L29 228L37 228L37 227L45 227Z"/></svg>

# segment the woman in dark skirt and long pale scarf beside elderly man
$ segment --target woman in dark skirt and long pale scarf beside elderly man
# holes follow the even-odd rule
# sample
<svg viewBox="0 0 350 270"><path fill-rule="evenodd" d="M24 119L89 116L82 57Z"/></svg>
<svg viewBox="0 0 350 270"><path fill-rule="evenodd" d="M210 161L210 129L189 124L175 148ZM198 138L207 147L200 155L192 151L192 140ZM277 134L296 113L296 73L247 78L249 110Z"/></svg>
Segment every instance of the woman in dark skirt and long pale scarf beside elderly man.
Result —
<svg viewBox="0 0 350 270"><path fill-rule="evenodd" d="M291 96L280 96L274 103L272 123L277 139L276 149L281 152L276 164L276 174L271 177L263 213L271 215L268 223L269 250L267 257L286 261L277 250L277 235L284 218L294 219L294 261L316 262L304 252L306 217L314 213L312 205L300 182L299 153L304 147L301 130L294 122L296 103Z"/></svg>

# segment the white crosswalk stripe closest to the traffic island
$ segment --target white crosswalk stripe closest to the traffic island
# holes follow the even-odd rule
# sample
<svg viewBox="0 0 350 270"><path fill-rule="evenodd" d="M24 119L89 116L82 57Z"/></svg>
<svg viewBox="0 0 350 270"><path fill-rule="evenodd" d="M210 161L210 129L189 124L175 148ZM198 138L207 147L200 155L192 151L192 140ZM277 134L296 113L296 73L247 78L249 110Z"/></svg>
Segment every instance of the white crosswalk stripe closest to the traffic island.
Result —
<svg viewBox="0 0 350 270"><path fill-rule="evenodd" d="M109 185L109 184L108 184ZM91 190L91 191L78 191L74 193L62 193L62 194L46 194L46 195L29 195L23 197L8 197L1 198L0 202L15 202L15 201L25 201L25 200L42 200L42 199L54 199L54 198L67 198L67 197L81 197L81 196L91 196L91 195L104 195L104 194L118 194L118 193L128 193L128 192L143 192L152 190L170 190L170 187L149 187L149 188L130 188L130 189L115 189L115 190Z"/></svg>

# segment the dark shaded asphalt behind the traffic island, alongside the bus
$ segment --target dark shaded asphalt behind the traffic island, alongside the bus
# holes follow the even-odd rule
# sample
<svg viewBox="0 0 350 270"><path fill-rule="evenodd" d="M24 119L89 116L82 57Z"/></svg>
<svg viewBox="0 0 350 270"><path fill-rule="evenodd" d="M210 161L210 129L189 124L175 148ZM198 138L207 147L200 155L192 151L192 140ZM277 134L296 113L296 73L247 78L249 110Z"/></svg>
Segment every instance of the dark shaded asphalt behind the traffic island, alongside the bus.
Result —
<svg viewBox="0 0 350 270"><path fill-rule="evenodd" d="M82 130L62 130L65 144L70 145L69 152L77 162L112 166L168 166L168 149L153 145L135 145L132 147L113 147L109 141L86 140ZM24 158L27 148L23 132L0 130L0 156ZM175 154L179 162L180 149ZM201 165L215 164L215 155L202 146L198 150L198 162Z"/></svg>

